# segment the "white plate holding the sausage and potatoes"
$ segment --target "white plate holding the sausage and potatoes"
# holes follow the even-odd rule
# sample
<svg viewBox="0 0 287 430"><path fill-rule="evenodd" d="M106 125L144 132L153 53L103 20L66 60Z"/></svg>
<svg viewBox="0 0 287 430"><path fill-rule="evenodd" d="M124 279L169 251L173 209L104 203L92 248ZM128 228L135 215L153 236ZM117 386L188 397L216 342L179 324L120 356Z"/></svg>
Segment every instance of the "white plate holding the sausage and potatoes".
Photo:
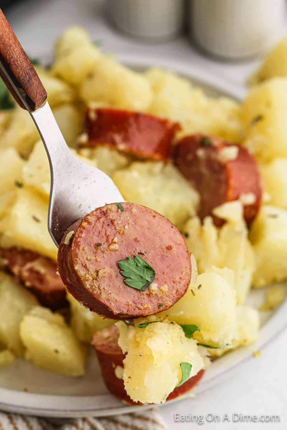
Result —
<svg viewBox="0 0 287 430"><path fill-rule="evenodd" d="M156 59L120 56L120 60L130 67L142 71L148 66L158 65L188 77L193 83L201 86L208 95L228 95L241 100L245 90L231 83L173 61L158 62ZM248 303L259 307L263 301L264 290L253 291ZM275 312L264 312L259 339L249 347L242 347L216 360L204 375L193 392L203 390L224 380L238 365L247 362L254 350L262 349L270 343L287 325L287 301ZM28 392L27 392L28 390ZM175 399L173 401L177 401ZM168 402L167 404L170 404ZM13 365L0 369L0 409L9 412L38 415L46 417L99 417L132 412L139 408L151 406L128 406L108 393L91 348L86 375L80 378L65 377L39 369L22 359Z"/></svg>

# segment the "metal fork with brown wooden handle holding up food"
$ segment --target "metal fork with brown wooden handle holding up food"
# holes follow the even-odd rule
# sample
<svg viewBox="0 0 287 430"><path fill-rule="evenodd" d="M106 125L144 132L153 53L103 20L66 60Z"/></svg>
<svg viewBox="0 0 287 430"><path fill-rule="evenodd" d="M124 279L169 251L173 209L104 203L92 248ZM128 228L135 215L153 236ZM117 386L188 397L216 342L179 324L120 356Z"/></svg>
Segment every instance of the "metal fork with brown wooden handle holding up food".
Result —
<svg viewBox="0 0 287 430"><path fill-rule="evenodd" d="M0 76L20 107L31 115L51 172L48 230L59 247L67 228L105 203L123 202L111 178L80 161L68 148L31 61L0 9Z"/></svg>

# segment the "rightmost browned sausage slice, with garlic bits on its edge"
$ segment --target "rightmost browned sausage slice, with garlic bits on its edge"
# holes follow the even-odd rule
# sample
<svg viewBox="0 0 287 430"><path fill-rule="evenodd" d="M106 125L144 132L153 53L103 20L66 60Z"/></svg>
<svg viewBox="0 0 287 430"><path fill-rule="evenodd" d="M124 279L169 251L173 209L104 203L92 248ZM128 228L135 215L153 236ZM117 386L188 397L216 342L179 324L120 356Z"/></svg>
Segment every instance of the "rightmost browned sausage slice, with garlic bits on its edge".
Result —
<svg viewBox="0 0 287 430"><path fill-rule="evenodd" d="M175 147L174 162L201 196L199 216L203 219L222 203L247 195L244 218L255 218L262 199L262 180L253 155L247 148L220 138L192 135ZM222 220L214 217L217 226Z"/></svg>

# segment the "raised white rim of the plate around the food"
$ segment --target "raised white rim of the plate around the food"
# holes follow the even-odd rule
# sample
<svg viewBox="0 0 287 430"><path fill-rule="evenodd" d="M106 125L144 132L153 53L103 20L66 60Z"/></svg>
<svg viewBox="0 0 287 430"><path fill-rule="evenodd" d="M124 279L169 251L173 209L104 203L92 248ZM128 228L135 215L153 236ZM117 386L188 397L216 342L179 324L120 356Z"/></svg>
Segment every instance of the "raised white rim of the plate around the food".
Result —
<svg viewBox="0 0 287 430"><path fill-rule="evenodd" d="M47 58L47 56L46 56ZM202 86L210 87L222 96L231 97L237 101L241 101L246 93L246 87L236 86L228 80L210 73L209 71L202 70L201 68L194 67L185 61L180 64L177 60L173 59L158 59L145 55L134 54L118 54L117 58L123 64L131 68L149 68L160 67L177 74L180 74L189 80L195 80ZM263 349L267 344L270 344L277 338L281 332L287 328L287 321L284 316L287 311L287 301L281 304L280 307L274 312L270 319L262 326L259 332L259 338L256 342L248 347L241 347L234 350L220 360L213 363L212 368L215 370L212 378L207 378L209 371L204 375L201 382L192 390L192 393L199 394L204 392L210 387L213 387L219 380L224 381L233 372L239 370L241 366L252 359L254 350ZM285 321L282 324L282 321ZM281 323L281 324L280 324ZM231 364L232 362L232 364ZM227 364L227 366L226 366ZM226 369L224 369L226 368ZM160 406L170 405L187 396L181 396L173 399L170 402L161 404ZM75 405L69 407L71 402ZM99 406L95 406L98 402ZM110 404L111 407L103 407L103 405ZM141 410L152 408L154 405L140 406ZM19 390L10 390L0 387L0 409L7 412L21 413L23 415L34 415L40 417L56 417L56 418L80 418L80 417L101 417L115 414L125 414L139 410L139 406L123 405L119 399L115 398L112 394L98 394L98 395L53 395L53 394L40 394L40 393L26 393Z"/></svg>

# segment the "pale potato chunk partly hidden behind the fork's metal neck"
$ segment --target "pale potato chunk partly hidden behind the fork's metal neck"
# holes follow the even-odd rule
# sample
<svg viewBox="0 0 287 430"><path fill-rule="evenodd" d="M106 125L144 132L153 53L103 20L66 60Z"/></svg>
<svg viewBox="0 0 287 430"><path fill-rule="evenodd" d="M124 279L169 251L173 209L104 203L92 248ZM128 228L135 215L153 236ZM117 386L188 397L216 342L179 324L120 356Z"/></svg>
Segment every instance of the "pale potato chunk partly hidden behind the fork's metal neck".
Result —
<svg viewBox="0 0 287 430"><path fill-rule="evenodd" d="M80 160L90 166L95 166L96 163L93 160L80 156L74 150L71 151ZM39 191L43 197L49 199L51 184L50 166L46 150L41 140L35 143L33 151L23 167L22 178L25 186L33 187L35 190Z"/></svg>

